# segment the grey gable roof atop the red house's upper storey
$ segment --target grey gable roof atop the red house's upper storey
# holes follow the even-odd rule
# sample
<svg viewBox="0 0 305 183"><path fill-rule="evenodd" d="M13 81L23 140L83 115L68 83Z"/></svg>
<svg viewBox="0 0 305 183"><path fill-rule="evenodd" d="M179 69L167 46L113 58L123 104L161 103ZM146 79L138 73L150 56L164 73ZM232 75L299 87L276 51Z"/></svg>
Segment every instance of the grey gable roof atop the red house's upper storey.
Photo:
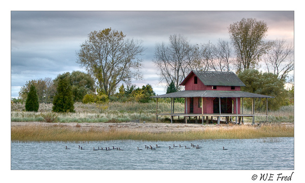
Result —
<svg viewBox="0 0 305 183"><path fill-rule="evenodd" d="M205 86L246 86L233 72L194 70L190 72L180 85L185 85L192 73L194 73Z"/></svg>

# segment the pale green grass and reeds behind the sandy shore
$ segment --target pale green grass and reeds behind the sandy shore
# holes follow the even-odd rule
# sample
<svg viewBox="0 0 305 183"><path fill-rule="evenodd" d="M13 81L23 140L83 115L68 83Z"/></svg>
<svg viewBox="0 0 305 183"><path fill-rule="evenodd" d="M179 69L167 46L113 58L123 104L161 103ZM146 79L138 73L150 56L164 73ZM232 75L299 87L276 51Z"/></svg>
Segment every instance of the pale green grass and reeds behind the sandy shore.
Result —
<svg viewBox="0 0 305 183"><path fill-rule="evenodd" d="M106 104L74 104L75 113L56 113L56 122L60 123L101 123L101 122L128 122L132 120L156 121L156 103L138 102L109 102ZM11 121L32 122L44 121L41 114L51 113L52 104L40 104L39 112L24 112L24 104L11 105ZM244 109L245 114L250 111ZM170 113L170 102L159 102L158 113ZM184 104L175 103L175 113L184 113ZM256 112L258 113L258 112ZM265 112L262 112L263 114ZM270 111L268 121L294 123L294 106L283 106L278 111ZM158 122L169 123L169 117L159 116ZM224 119L223 119L224 120ZM264 121L265 117L256 117L256 121ZM233 119L235 121L235 119ZM244 118L245 122L252 122L252 118Z"/></svg>

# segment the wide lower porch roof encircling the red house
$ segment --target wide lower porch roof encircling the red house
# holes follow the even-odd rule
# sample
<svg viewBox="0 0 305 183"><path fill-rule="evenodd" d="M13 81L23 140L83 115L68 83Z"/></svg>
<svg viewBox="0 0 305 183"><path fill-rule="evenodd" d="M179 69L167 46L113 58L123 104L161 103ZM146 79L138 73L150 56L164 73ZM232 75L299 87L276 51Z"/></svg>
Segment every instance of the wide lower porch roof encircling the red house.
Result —
<svg viewBox="0 0 305 183"><path fill-rule="evenodd" d="M185 90L164 95L152 96L151 98L185 98L185 97L246 97L246 98L274 98L272 96L249 93L243 91L219 91L219 90Z"/></svg>

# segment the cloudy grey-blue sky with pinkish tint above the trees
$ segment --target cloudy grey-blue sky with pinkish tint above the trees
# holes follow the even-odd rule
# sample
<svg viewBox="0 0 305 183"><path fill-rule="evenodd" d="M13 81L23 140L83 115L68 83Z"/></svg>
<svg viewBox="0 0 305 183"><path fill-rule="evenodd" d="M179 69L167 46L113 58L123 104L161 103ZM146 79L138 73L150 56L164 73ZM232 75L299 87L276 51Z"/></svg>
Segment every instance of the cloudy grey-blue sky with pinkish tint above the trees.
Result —
<svg viewBox="0 0 305 183"><path fill-rule="evenodd" d="M132 83L165 94L152 61L156 43L168 44L172 34L183 34L191 44L230 41L227 27L242 18L266 22L266 40L294 44L294 11L11 11L11 97L18 97L26 81L86 72L76 52L88 33L110 27L143 42L143 80Z"/></svg>

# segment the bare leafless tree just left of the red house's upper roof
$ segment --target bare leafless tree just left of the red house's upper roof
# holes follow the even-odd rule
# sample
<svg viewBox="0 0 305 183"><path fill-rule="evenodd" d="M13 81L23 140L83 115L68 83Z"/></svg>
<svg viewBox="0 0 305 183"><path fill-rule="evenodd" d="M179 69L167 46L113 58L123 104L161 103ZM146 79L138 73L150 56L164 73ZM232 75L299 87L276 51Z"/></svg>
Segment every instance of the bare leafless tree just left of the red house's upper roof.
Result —
<svg viewBox="0 0 305 183"><path fill-rule="evenodd" d="M187 77L190 62L191 45L181 34L169 36L169 45L156 44L154 63L159 69L160 80L169 86L174 82L176 89Z"/></svg>

